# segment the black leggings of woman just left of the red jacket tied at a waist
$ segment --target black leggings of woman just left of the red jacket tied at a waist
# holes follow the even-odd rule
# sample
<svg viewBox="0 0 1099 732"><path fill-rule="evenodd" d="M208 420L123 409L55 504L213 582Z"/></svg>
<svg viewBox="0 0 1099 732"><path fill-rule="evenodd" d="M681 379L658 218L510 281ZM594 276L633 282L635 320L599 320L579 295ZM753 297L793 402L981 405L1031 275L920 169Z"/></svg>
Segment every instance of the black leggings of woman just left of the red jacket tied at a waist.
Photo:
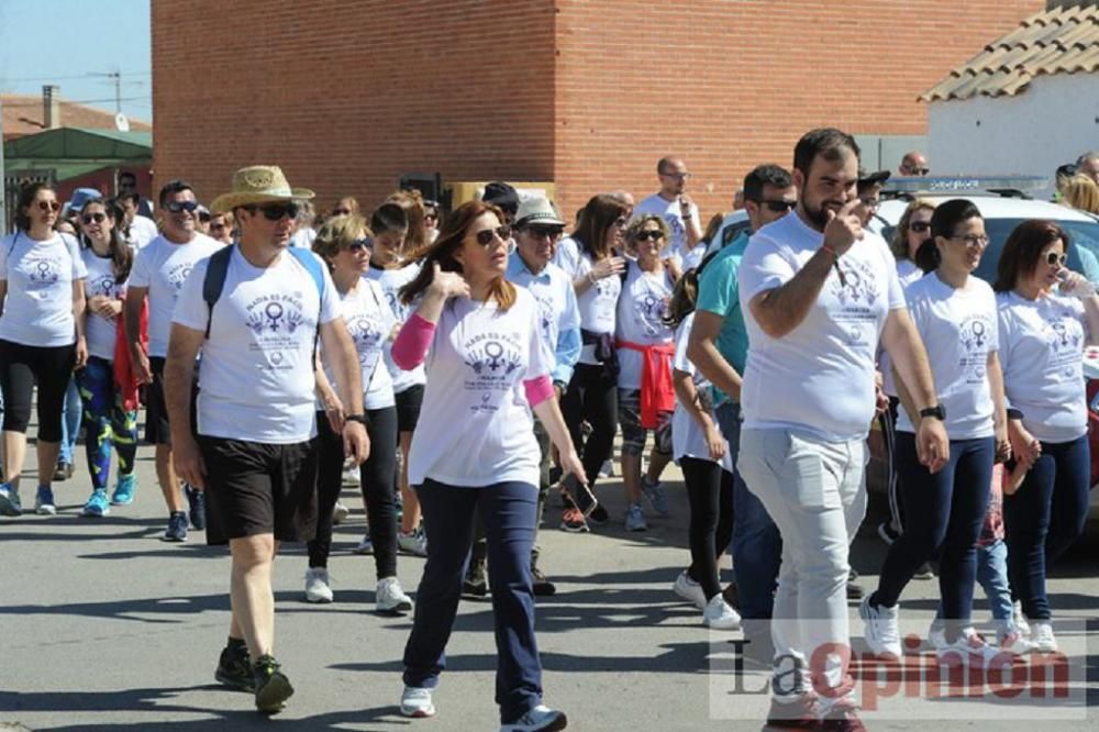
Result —
<svg viewBox="0 0 1099 732"><path fill-rule="evenodd" d="M595 486L599 468L611 456L614 431L618 430L618 385L603 373L602 366L577 364L573 380L560 400L560 411L568 425L576 452L584 463L588 485ZM584 439L580 424L587 421L591 434Z"/></svg>

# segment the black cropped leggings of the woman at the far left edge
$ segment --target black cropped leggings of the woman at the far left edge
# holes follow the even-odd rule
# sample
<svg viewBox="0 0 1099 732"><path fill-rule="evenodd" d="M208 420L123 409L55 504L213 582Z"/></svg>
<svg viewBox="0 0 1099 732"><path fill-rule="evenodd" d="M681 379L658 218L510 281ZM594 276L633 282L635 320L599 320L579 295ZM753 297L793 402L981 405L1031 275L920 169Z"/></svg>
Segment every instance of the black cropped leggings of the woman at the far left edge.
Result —
<svg viewBox="0 0 1099 732"><path fill-rule="evenodd" d="M76 364L76 346L29 346L0 340L0 390L4 432L26 432L31 398L38 385L38 440L60 442L65 391Z"/></svg>

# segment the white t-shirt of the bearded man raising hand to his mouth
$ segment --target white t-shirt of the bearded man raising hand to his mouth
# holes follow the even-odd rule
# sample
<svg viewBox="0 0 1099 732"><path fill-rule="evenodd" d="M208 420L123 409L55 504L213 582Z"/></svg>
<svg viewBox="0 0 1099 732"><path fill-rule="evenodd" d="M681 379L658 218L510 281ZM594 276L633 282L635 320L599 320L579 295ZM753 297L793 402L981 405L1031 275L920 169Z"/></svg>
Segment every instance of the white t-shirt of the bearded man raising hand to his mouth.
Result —
<svg viewBox="0 0 1099 732"><path fill-rule="evenodd" d="M747 429L795 429L829 442L866 437L874 418L874 364L890 310L904 307L893 256L864 232L828 279L804 320L780 339L752 314L752 298L790 281L824 242L797 214L752 235L741 268L741 309L748 332L741 406Z"/></svg>

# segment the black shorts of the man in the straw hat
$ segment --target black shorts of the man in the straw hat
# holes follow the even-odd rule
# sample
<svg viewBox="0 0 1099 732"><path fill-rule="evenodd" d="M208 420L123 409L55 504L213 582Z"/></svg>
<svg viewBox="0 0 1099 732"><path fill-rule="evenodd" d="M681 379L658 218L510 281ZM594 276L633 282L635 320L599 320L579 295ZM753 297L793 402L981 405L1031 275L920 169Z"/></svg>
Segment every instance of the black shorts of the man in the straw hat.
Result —
<svg viewBox="0 0 1099 732"><path fill-rule="evenodd" d="M302 542L317 534L315 440L270 445L199 435L206 465L207 543L275 534Z"/></svg>

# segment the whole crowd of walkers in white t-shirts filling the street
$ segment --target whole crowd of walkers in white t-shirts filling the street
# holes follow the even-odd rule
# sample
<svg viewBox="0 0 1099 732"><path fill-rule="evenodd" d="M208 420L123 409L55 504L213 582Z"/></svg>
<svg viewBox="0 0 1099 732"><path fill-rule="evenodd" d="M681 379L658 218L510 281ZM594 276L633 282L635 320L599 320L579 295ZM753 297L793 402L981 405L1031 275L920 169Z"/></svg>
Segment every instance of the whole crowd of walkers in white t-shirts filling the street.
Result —
<svg viewBox="0 0 1099 732"><path fill-rule="evenodd" d="M926 174L917 155L901 175ZM134 500L144 404L164 540L204 529L232 555L217 678L264 712L293 692L273 653L275 554L308 542L306 599L333 601L351 480L376 607L413 613L401 713L435 714L459 598L491 595L501 729L564 729L542 700L534 598L556 587L537 531L555 493L566 532L612 520L597 484L619 434L624 528L676 510L662 474L677 463L689 554L671 589L775 658L776 725L863 729L847 601L872 653L897 659L914 577L937 574L940 662L1056 651L1045 581L1087 514L1099 297L1050 221L1020 224L996 281L976 278L989 240L966 199L911 200L887 243L868 224L889 174L858 158L839 130L807 133L791 169L745 177L734 237L721 214L703 229L675 157L653 196L596 195L571 225L503 182L445 215L408 190L318 211L279 168L252 166L209 209L166 184L157 223L132 181L113 199L78 189L64 210L51 186L25 186L0 240L0 513L23 511L35 390L46 515L81 421L82 515ZM1066 198L1087 190L1090 159ZM848 547L872 425L891 520L864 597ZM426 557L415 602L400 552ZM977 583L995 644L974 629Z"/></svg>

